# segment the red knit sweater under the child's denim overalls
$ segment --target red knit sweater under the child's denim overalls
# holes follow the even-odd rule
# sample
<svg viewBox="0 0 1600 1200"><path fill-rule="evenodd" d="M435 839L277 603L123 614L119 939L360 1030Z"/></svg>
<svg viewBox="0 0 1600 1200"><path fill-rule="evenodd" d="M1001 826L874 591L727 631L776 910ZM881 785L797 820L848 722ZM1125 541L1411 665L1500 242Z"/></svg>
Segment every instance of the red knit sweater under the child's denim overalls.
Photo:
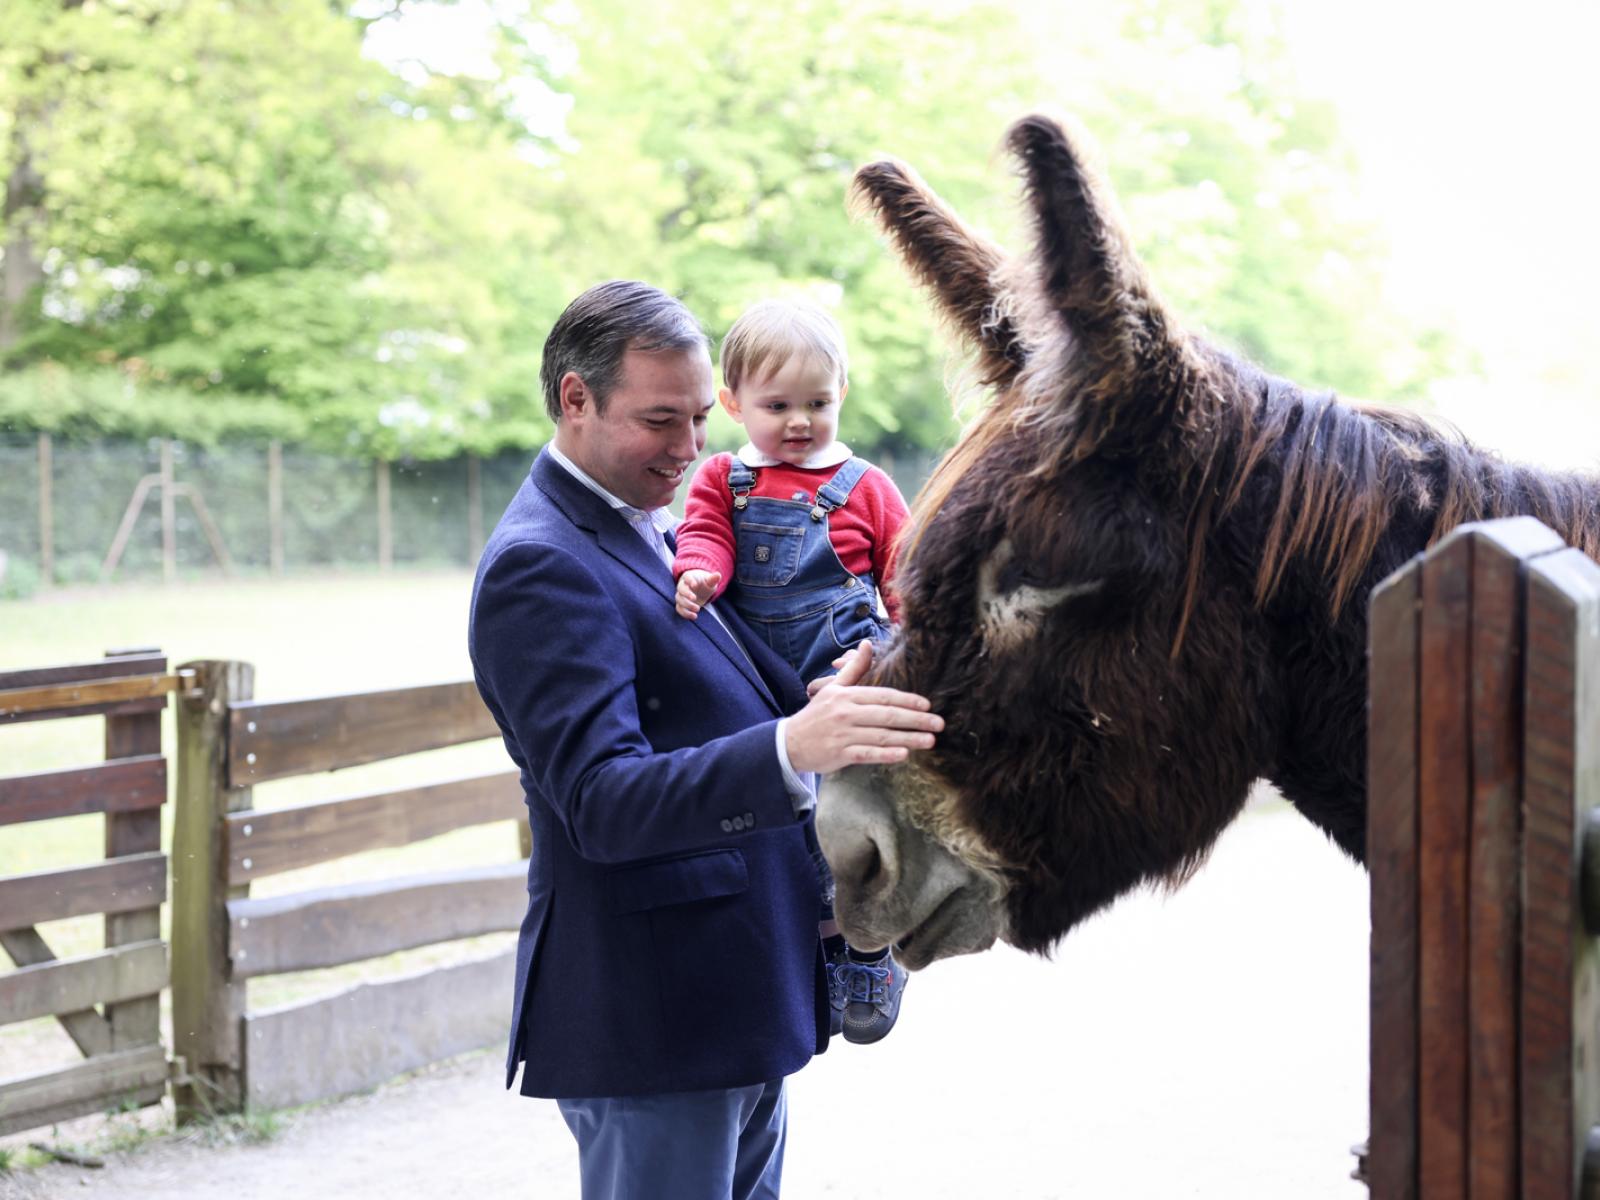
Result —
<svg viewBox="0 0 1600 1200"><path fill-rule="evenodd" d="M733 493L728 490L731 466L733 454L712 454L694 472L683 502L683 523L677 528L678 554L672 563L672 578L691 570L720 571L717 595L733 579ZM835 470L838 464L816 469L792 467L787 462L757 467L750 494L794 499L797 491L803 491L811 499ZM827 539L834 544L834 554L851 574L872 571L890 621L899 619L899 603L888 582L894 573L894 538L906 523L906 515L899 488L877 467L867 467L843 507L827 515Z"/></svg>

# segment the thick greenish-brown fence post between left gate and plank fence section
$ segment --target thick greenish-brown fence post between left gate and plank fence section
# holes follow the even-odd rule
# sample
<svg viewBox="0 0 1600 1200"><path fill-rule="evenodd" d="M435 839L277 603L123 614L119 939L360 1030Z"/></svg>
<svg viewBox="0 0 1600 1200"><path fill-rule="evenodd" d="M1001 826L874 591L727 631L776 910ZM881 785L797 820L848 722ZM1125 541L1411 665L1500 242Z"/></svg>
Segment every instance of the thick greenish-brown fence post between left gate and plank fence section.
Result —
<svg viewBox="0 0 1600 1200"><path fill-rule="evenodd" d="M178 805L173 827L173 1051L187 1064L178 1118L243 1109L240 1021L245 984L229 976L222 819L250 808L248 787L227 786L227 706L254 696L248 662L190 662L195 688L178 698Z"/></svg>

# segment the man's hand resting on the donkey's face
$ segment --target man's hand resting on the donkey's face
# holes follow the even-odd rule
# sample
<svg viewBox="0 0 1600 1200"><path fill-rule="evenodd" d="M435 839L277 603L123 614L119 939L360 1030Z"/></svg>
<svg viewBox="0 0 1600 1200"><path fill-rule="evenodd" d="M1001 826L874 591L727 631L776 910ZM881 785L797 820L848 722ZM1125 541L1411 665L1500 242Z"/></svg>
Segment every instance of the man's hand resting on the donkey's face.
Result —
<svg viewBox="0 0 1600 1200"><path fill-rule="evenodd" d="M872 643L862 642L843 669L824 680L784 726L784 750L797 771L837 771L851 763L898 763L933 746L944 718L928 701L894 688L864 688Z"/></svg>

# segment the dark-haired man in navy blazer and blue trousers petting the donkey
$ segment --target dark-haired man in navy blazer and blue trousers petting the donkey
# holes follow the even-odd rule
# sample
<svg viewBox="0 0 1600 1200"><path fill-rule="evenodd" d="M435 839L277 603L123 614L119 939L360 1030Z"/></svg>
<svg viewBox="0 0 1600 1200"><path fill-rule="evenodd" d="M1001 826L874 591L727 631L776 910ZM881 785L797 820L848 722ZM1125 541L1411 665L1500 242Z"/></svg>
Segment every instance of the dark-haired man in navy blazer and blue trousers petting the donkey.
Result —
<svg viewBox="0 0 1600 1200"><path fill-rule="evenodd" d="M677 618L666 506L712 406L682 304L590 288L541 382L555 437L469 629L533 827L506 1082L522 1061L523 1094L558 1101L586 1200L776 1197L784 1077L829 1034L806 776L942 722L858 686L869 648L806 701L731 610Z"/></svg>

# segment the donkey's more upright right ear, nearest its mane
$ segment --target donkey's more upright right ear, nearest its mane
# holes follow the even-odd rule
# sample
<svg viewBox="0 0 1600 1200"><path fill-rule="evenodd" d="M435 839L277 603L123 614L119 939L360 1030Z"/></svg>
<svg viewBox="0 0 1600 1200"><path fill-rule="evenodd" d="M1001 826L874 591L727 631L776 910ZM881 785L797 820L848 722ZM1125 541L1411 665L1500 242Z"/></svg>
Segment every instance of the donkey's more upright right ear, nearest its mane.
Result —
<svg viewBox="0 0 1600 1200"><path fill-rule="evenodd" d="M1083 446L1112 427L1147 435L1173 416L1165 387L1186 360L1181 336L1162 309L1144 267L1128 248L1110 190L1074 138L1048 117L1024 117L1006 134L1022 166L1037 227L1037 286L1046 314L1070 339L1074 395L1098 411L1078 414Z"/></svg>

